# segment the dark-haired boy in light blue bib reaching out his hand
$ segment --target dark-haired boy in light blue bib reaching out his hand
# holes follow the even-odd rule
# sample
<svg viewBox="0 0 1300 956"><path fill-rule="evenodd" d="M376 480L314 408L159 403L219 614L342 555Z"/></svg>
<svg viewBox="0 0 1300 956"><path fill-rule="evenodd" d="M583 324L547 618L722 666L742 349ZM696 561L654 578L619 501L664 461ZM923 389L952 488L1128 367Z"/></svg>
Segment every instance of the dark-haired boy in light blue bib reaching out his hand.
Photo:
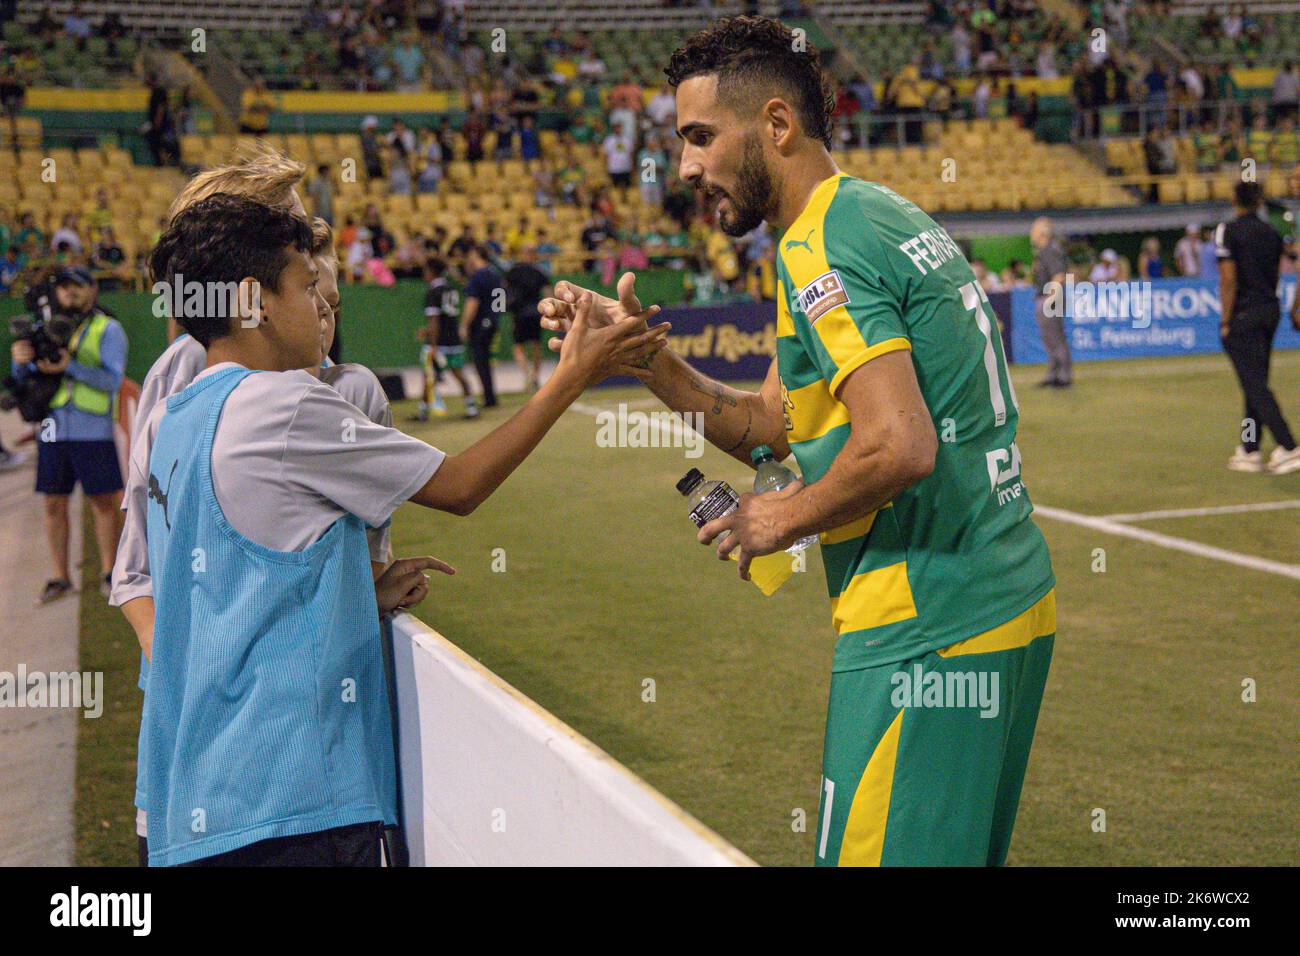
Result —
<svg viewBox="0 0 1300 956"><path fill-rule="evenodd" d="M546 385L443 455L302 371L324 358L309 246L287 209L217 194L176 216L151 256L168 284L237 284L240 302L260 289L248 313L226 302L178 316L207 365L147 423L151 865L378 862L396 792L363 528L408 499L471 514L586 386L667 333L640 316L594 329L582 299Z"/></svg>

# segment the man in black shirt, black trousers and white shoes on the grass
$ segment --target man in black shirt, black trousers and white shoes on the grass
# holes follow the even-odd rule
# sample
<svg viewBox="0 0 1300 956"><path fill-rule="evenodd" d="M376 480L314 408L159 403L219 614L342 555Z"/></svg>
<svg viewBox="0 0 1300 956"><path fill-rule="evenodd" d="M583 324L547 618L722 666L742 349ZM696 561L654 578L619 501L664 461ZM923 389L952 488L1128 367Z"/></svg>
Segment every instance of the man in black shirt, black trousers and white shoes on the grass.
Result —
<svg viewBox="0 0 1300 956"><path fill-rule="evenodd" d="M1214 233L1223 315L1219 338L1245 395L1242 444L1227 467L1286 475L1300 471L1300 450L1269 388L1273 337L1282 321L1278 272L1283 243L1278 230L1260 219L1261 202L1258 183L1239 182L1234 203L1236 219L1219 224ZM1261 429L1268 429L1278 444L1268 464L1260 454Z"/></svg>

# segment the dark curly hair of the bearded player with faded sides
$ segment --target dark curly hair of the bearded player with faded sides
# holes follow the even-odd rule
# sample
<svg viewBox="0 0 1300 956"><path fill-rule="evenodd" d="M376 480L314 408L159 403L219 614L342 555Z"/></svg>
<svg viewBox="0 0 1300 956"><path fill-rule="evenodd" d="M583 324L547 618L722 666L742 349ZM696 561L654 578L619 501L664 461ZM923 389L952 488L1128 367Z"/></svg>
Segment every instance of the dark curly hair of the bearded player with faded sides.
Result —
<svg viewBox="0 0 1300 956"><path fill-rule="evenodd" d="M792 99L803 135L831 148L835 94L822 74L822 61L816 49L777 20L723 17L677 47L664 74L675 87L690 77L716 75L718 99L740 114L784 94Z"/></svg>

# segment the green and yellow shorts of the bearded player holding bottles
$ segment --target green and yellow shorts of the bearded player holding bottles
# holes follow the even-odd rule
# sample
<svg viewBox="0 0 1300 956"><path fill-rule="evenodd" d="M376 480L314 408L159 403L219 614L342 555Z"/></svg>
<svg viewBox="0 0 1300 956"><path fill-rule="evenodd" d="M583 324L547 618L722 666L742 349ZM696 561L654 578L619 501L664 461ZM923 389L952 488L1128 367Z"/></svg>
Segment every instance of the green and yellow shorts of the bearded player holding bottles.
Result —
<svg viewBox="0 0 1300 956"><path fill-rule="evenodd" d="M1056 592L922 657L831 675L818 866L1000 866L1056 640Z"/></svg>

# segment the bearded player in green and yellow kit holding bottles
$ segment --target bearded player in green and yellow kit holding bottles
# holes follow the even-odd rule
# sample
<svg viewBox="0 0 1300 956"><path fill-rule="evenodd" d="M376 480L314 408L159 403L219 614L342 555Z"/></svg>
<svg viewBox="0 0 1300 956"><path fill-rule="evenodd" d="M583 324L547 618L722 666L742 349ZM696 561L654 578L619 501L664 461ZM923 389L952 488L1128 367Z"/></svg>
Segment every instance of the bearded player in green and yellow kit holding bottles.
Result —
<svg viewBox="0 0 1300 956"><path fill-rule="evenodd" d="M745 494L699 540L751 558L819 533L837 632L819 865L998 865L1056 632L1054 578L1020 477L997 324L935 221L828 152L818 56L774 20L694 34L667 69L680 173L722 229L781 233L776 360L758 392L668 350L637 377L749 463L793 451L801 483ZM641 311L634 277L595 312ZM563 332L567 282L542 303ZM653 307L651 307L653 311ZM982 701L982 704L978 704ZM972 706L976 705L976 706Z"/></svg>

